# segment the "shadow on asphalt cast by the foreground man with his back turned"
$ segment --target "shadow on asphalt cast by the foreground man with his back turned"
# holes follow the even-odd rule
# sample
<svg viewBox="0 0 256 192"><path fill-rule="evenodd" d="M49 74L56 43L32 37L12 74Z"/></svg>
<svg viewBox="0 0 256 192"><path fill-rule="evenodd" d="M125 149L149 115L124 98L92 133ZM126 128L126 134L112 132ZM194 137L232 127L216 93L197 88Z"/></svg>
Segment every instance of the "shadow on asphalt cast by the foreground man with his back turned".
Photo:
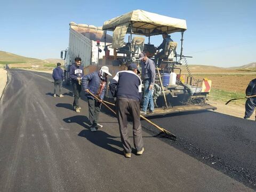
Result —
<svg viewBox="0 0 256 192"><path fill-rule="evenodd" d="M91 132L90 130L82 130L78 136L84 137L87 140L91 141L95 145L102 147L103 149L107 149L116 154L122 155L123 151L119 150L113 146L117 146L119 148L123 148L122 142L114 140L117 137L114 137L103 131Z"/></svg>

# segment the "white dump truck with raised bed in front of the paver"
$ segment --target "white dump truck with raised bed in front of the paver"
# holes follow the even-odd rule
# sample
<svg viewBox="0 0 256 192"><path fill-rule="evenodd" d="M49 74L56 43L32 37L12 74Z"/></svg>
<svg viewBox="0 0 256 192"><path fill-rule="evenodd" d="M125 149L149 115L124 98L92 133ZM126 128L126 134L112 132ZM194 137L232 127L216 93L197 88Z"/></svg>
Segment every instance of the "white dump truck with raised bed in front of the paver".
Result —
<svg viewBox="0 0 256 192"><path fill-rule="evenodd" d="M65 82L69 84L69 68L75 64L75 58L82 59L82 66L90 73L102 65L102 58L106 52L105 47L112 43L111 35L103 35L102 27L93 25L69 23L69 46L61 51L60 57L64 61ZM114 54L113 49L108 49L109 54ZM105 60L106 61L106 60ZM106 64L106 63L104 63Z"/></svg>

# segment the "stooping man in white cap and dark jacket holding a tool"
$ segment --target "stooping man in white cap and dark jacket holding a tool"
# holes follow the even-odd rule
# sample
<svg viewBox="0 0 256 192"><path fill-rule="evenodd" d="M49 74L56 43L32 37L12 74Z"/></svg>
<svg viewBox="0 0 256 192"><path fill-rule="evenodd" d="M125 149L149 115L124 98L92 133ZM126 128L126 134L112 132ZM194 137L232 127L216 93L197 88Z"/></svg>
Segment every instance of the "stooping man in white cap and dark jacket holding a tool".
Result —
<svg viewBox="0 0 256 192"><path fill-rule="evenodd" d="M103 100L108 78L112 76L108 67L102 66L99 71L95 71L91 74L87 74L83 77L83 89L85 92L91 92L100 100ZM90 93L87 93L87 100L89 106L89 119L91 123L91 131L97 131L96 128L101 128L102 125L98 123L101 102L95 99Z"/></svg>

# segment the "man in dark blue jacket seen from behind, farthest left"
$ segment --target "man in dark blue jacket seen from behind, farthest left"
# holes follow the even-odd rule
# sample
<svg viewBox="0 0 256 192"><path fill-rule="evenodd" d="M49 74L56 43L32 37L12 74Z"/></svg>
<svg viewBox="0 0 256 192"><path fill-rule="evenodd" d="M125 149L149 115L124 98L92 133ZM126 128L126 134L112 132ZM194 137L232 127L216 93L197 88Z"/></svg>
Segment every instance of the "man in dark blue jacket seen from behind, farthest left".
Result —
<svg viewBox="0 0 256 192"><path fill-rule="evenodd" d="M54 79L53 97L56 97L57 86L59 86L60 97L63 97L62 82L64 79L64 73L63 73L63 70L60 68L60 66L61 66L61 63L57 63L57 67L55 69L53 69L53 71L52 71L52 78Z"/></svg>

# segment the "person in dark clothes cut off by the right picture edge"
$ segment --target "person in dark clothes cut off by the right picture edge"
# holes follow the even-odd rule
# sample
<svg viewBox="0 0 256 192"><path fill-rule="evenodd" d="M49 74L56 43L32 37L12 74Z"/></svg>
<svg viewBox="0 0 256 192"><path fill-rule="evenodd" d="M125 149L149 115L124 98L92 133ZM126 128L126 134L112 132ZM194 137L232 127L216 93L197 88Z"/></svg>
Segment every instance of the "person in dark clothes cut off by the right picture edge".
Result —
<svg viewBox="0 0 256 192"><path fill-rule="evenodd" d="M249 83L249 85L246 88L245 94L246 94L246 97L256 95L256 78ZM244 114L245 119L250 118L250 116L253 114L255 107L256 107L256 97L247 98L245 102L245 114ZM256 116L255 116L255 121L256 121Z"/></svg>

